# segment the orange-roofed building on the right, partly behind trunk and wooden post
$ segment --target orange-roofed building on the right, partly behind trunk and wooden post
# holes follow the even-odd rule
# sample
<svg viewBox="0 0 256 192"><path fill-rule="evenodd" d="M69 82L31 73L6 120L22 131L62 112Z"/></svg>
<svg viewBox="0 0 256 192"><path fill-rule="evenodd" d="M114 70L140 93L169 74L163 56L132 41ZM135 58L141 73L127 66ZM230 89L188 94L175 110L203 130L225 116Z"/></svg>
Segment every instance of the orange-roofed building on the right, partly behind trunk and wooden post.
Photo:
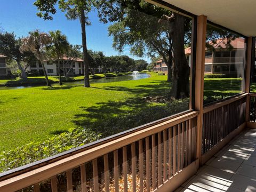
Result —
<svg viewBox="0 0 256 192"><path fill-rule="evenodd" d="M228 50L226 47L227 38L218 39L213 45L214 52L205 51L205 73L208 74L236 74L238 68L243 68L243 58L245 54L244 39L236 38L231 41L233 49ZM190 65L191 48L185 49L186 58ZM167 73L168 69L163 59L155 63L154 71L163 71Z"/></svg>

